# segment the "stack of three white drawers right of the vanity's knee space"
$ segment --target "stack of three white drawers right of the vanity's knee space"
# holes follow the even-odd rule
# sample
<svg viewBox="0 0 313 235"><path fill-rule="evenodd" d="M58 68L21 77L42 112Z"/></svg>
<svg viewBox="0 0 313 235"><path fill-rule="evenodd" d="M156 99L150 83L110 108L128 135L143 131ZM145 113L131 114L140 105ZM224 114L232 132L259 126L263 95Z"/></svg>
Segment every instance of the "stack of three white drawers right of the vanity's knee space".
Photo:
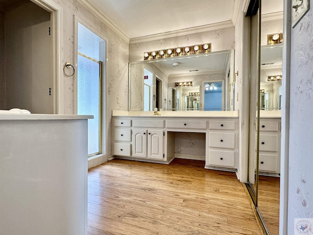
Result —
<svg viewBox="0 0 313 235"><path fill-rule="evenodd" d="M209 132L206 140L206 168L237 168L238 162L238 121L212 119L209 121Z"/></svg>

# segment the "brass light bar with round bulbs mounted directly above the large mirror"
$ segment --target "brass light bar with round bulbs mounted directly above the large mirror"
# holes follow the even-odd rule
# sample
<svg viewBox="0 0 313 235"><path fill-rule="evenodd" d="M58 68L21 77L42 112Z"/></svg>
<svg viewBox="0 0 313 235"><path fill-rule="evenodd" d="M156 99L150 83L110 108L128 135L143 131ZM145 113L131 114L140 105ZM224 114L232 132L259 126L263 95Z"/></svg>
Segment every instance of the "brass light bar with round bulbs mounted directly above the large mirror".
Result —
<svg viewBox="0 0 313 235"><path fill-rule="evenodd" d="M171 58L171 57L182 56L182 55L207 53L207 52L211 52L210 43L144 52L143 59L153 60L153 59L161 59L161 58Z"/></svg>

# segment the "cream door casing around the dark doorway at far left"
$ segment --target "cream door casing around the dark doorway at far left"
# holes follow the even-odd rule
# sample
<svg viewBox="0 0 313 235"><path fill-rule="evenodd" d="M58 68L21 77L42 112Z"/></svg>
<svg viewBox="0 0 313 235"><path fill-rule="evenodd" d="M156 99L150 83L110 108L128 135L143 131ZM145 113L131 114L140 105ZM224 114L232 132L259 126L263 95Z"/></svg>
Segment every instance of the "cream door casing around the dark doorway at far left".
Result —
<svg viewBox="0 0 313 235"><path fill-rule="evenodd" d="M52 28L52 76L53 76L53 112L64 114L63 85L63 8L52 0L31 0L51 13Z"/></svg>

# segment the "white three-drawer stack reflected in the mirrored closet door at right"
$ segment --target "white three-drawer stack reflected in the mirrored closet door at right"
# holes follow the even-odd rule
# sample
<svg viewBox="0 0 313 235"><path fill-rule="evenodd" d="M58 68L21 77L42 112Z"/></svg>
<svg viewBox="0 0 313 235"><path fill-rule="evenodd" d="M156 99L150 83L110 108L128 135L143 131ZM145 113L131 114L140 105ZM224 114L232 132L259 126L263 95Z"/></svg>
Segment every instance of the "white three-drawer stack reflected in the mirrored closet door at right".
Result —
<svg viewBox="0 0 313 235"><path fill-rule="evenodd" d="M281 118L260 118L259 172L280 173Z"/></svg>

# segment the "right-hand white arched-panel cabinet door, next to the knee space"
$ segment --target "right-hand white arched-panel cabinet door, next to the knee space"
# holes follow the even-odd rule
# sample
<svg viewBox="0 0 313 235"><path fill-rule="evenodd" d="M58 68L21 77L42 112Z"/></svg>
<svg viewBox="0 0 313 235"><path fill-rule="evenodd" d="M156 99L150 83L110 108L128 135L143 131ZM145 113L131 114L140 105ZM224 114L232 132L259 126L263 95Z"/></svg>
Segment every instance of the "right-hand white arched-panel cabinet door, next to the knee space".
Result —
<svg viewBox="0 0 313 235"><path fill-rule="evenodd" d="M163 160L163 130L148 130L148 158Z"/></svg>

